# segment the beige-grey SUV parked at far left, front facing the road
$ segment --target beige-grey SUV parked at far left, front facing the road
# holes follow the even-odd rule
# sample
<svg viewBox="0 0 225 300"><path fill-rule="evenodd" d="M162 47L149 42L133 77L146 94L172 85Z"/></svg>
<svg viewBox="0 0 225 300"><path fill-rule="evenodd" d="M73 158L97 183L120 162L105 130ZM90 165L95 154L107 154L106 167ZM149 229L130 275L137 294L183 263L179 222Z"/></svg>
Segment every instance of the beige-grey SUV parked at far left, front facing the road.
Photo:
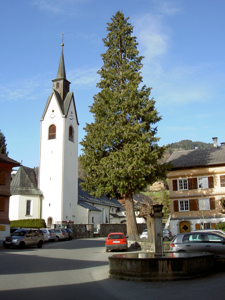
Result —
<svg viewBox="0 0 225 300"><path fill-rule="evenodd" d="M41 229L21 228L3 240L5 248L17 247L23 249L25 246L37 246L41 248L44 244L44 234Z"/></svg>

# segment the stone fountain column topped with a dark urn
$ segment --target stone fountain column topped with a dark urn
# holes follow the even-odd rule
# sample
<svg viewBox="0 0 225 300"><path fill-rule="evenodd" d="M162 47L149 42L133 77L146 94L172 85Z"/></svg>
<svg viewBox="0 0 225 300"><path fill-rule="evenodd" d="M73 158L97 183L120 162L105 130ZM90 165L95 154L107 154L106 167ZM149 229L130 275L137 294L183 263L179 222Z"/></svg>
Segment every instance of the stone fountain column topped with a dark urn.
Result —
<svg viewBox="0 0 225 300"><path fill-rule="evenodd" d="M154 229L155 229L155 253L154 255L163 256L163 223L162 223L162 210L163 204L153 204L154 211Z"/></svg>

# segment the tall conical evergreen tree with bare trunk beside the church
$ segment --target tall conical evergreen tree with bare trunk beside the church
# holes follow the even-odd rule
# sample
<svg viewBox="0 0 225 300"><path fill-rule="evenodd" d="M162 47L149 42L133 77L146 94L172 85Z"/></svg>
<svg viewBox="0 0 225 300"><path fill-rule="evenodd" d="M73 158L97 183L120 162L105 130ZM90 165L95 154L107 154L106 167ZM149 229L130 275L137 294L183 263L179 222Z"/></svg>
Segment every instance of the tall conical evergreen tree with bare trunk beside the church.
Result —
<svg viewBox="0 0 225 300"><path fill-rule="evenodd" d="M80 143L82 167L88 174L82 187L94 196L125 195L127 233L138 235L133 193L144 190L156 179L165 179L167 167L158 164L165 147L155 137L161 120L155 101L149 99L151 88L142 82L143 56L132 37L133 26L120 11L107 23L107 51L101 54L101 79L90 112L94 123L86 124Z"/></svg>

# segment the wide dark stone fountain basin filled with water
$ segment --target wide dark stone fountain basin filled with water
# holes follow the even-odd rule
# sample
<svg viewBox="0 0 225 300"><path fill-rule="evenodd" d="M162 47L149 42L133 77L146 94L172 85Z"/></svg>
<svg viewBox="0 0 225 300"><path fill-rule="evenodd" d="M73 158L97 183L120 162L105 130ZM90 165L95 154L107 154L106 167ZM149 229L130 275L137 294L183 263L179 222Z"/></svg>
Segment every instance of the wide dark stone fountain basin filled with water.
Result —
<svg viewBox="0 0 225 300"><path fill-rule="evenodd" d="M214 272L214 254L208 252L125 253L108 257L108 278L134 281L184 280Z"/></svg>

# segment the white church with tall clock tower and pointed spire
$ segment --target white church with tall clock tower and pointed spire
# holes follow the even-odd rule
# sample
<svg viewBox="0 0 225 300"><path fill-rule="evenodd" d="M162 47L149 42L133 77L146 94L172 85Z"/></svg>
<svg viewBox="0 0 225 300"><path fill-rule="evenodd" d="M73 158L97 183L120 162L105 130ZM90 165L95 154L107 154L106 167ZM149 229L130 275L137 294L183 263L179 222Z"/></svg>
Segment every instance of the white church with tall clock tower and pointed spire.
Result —
<svg viewBox="0 0 225 300"><path fill-rule="evenodd" d="M94 198L78 181L78 117L66 78L63 46L57 76L44 108L39 167L20 166L10 184L9 219L42 218L47 226L62 222L121 223L125 208L116 199Z"/></svg>

